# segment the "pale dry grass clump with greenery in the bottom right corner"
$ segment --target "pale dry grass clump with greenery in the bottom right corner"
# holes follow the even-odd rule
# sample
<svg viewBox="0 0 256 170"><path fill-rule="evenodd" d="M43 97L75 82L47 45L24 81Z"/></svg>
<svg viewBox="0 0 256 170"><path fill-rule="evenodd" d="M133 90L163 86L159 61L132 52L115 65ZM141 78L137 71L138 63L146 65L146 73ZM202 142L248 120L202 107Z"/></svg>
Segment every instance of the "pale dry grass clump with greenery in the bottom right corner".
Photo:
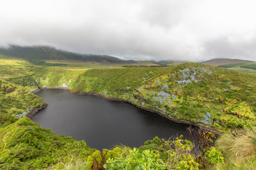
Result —
<svg viewBox="0 0 256 170"><path fill-rule="evenodd" d="M230 120L228 127L215 145L224 157L220 169L256 169L255 122Z"/></svg>

